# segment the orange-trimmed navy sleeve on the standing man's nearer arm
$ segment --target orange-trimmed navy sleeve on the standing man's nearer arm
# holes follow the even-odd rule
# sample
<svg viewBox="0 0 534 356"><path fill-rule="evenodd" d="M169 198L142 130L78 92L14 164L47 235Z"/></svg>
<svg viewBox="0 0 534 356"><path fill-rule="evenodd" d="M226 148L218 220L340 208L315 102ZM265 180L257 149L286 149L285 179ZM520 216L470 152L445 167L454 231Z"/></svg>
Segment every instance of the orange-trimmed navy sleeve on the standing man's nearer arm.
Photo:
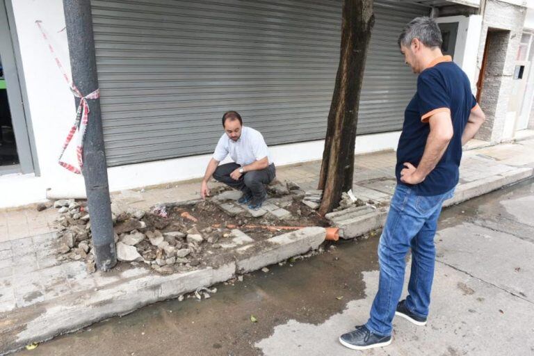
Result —
<svg viewBox="0 0 534 356"><path fill-rule="evenodd" d="M419 115L422 122L428 122L430 116L451 113L451 98L445 88L443 79L432 74L421 74L417 79L417 95L419 96Z"/></svg>

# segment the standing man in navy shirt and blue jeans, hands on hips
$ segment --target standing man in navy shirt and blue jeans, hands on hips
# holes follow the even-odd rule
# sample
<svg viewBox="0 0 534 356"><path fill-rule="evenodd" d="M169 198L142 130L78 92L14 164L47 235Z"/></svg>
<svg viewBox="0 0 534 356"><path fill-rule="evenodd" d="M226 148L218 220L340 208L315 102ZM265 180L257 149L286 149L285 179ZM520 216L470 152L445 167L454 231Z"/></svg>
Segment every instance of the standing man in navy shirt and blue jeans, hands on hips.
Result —
<svg viewBox="0 0 534 356"><path fill-rule="evenodd" d="M380 280L371 315L365 325L339 338L343 346L355 350L389 345L395 315L415 325L426 324L437 219L458 184L462 145L485 120L469 79L451 56L443 56L442 34L433 19L412 20L398 44L406 64L419 77L398 142L397 186L378 245ZM410 248L408 296L399 302Z"/></svg>

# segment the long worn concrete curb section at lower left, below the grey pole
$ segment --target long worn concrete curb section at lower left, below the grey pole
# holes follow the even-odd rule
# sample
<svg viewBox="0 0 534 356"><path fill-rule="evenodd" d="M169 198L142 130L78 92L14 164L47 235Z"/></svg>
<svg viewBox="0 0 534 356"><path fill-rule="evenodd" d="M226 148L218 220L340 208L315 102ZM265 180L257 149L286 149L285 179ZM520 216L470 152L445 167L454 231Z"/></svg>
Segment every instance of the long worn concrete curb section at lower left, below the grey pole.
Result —
<svg viewBox="0 0 534 356"><path fill-rule="evenodd" d="M85 270L82 262L79 270ZM234 277L236 265L229 262L219 268L203 268L185 273L154 275L144 268L133 268L118 277L95 273L100 279L120 280L98 289L60 296L53 302L42 302L31 307L9 312L24 328L3 327L0 330L0 353L8 353L24 346L49 340L111 316L123 316L140 307L161 300L177 298L195 291L200 286L211 286ZM78 281L76 281L78 283ZM80 302L83 300L83 302ZM6 316L0 313L0 317Z"/></svg>

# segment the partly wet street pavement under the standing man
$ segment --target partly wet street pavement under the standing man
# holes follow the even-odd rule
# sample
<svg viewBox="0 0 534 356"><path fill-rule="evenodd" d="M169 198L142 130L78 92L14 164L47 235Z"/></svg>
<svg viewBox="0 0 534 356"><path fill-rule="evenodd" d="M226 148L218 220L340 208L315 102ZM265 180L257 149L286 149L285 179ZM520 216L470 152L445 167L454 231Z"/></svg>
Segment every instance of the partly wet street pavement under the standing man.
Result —
<svg viewBox="0 0 534 356"><path fill-rule="evenodd" d="M337 341L369 315L377 235L18 355L533 355L533 193L530 180L444 210L429 323L395 319L387 348L359 353Z"/></svg>

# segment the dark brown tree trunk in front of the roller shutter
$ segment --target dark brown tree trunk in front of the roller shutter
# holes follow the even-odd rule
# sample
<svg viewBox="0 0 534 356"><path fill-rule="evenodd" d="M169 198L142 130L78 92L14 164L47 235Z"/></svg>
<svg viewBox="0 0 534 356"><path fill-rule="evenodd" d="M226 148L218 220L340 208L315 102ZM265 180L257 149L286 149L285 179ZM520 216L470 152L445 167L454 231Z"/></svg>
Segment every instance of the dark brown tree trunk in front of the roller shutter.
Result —
<svg viewBox="0 0 534 356"><path fill-rule="evenodd" d="M318 212L323 216L337 207L341 193L353 186L359 93L375 22L373 0L344 0L342 17L341 54L318 184L323 190Z"/></svg>

